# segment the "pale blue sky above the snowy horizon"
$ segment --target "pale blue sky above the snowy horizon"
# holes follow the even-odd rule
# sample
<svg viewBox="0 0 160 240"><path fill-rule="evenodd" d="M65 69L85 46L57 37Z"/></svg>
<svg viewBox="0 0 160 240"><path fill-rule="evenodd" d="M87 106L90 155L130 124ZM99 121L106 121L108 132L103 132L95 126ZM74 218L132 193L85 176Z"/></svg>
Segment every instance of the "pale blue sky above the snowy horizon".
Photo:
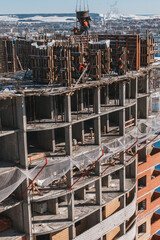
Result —
<svg viewBox="0 0 160 240"><path fill-rule="evenodd" d="M0 0L0 14L73 13L76 2L87 0ZM122 14L160 14L160 0L88 0L90 12L105 14L110 6ZM78 4L79 5L79 4Z"/></svg>

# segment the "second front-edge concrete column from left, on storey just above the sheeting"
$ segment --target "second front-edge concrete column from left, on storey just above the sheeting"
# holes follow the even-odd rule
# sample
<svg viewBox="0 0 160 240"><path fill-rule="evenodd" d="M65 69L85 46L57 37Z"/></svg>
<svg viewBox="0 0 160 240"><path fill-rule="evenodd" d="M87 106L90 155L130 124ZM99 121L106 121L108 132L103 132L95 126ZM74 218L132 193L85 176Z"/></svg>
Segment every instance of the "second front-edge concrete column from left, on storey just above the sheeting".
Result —
<svg viewBox="0 0 160 240"><path fill-rule="evenodd" d="M72 155L72 125L65 127L66 155Z"/></svg>

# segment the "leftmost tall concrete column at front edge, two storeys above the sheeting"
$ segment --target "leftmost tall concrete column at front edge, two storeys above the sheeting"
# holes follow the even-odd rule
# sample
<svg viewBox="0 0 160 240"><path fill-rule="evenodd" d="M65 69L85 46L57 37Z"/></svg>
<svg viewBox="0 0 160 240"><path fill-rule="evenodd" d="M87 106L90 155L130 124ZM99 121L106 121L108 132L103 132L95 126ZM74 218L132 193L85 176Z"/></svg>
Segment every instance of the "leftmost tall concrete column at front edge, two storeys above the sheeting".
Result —
<svg viewBox="0 0 160 240"><path fill-rule="evenodd" d="M19 128L18 133L18 147L19 147L19 158L22 167L28 167L28 151L27 151L27 120L26 120L26 107L25 99L23 97L16 98L16 111L17 111L17 127Z"/></svg>

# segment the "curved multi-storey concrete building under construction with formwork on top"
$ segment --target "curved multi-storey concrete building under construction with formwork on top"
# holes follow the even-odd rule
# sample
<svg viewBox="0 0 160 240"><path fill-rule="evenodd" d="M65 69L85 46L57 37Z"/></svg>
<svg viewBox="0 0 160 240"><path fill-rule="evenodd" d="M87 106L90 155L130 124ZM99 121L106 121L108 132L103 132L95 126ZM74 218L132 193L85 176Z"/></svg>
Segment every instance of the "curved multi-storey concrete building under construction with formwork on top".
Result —
<svg viewBox="0 0 160 240"><path fill-rule="evenodd" d="M154 40L0 43L0 240L160 239Z"/></svg>

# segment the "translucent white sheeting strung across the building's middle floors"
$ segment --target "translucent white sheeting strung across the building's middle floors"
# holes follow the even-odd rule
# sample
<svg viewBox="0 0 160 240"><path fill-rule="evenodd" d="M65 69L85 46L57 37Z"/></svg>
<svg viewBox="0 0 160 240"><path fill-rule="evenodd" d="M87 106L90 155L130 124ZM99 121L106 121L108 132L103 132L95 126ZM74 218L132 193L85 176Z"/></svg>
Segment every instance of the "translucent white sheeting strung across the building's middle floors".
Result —
<svg viewBox="0 0 160 240"><path fill-rule="evenodd" d="M115 139L113 142L108 144L103 144L102 149L104 149L104 156L100 159L100 162L106 162L115 154L130 148L136 142L137 137L137 144L140 144L148 138L153 137L153 135L158 131L160 131L160 115L147 121L144 120L124 137ZM53 161L53 163L49 163L43 169L43 171L36 178L35 182L37 185L45 187L51 184L53 181L61 179L74 166L76 166L80 171L83 171L92 165L102 155L102 149L96 148L95 150L82 153L73 158L68 157L59 162ZM45 161L31 170L25 171L19 168L13 168L11 171L1 174L0 202L13 193L26 178L33 180L44 164Z"/></svg>

